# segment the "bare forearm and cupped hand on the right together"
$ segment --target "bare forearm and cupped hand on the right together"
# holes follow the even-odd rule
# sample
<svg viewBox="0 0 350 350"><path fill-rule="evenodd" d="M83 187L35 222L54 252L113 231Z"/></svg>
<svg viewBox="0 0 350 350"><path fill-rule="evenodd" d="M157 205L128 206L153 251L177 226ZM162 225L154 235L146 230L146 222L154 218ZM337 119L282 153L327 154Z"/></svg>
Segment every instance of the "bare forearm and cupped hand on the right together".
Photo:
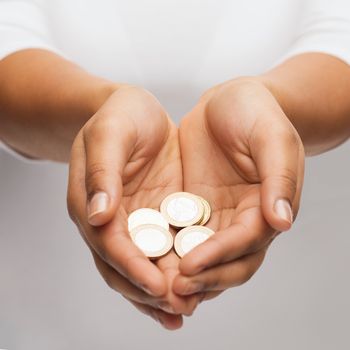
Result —
<svg viewBox="0 0 350 350"><path fill-rule="evenodd" d="M319 154L349 137L349 88L348 65L305 54L212 88L183 118L184 189L209 200L216 234L181 260L174 292L211 298L255 273L297 215L304 149Z"/></svg>

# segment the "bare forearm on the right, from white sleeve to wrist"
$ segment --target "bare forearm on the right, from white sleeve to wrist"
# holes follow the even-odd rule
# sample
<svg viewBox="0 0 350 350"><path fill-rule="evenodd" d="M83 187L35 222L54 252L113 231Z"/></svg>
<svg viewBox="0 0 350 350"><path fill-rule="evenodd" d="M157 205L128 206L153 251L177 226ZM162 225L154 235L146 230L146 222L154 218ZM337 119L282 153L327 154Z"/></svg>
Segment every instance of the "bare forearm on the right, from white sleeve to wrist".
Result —
<svg viewBox="0 0 350 350"><path fill-rule="evenodd" d="M303 54L262 75L304 143L318 154L350 136L350 67L325 54Z"/></svg>

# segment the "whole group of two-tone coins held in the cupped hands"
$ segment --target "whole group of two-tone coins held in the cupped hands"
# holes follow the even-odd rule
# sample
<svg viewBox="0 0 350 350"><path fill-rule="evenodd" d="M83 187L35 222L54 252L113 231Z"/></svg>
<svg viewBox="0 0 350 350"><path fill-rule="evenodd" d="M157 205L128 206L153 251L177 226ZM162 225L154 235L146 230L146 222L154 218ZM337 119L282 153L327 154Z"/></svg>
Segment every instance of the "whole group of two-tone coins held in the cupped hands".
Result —
<svg viewBox="0 0 350 350"><path fill-rule="evenodd" d="M183 257L214 234L203 226L210 215L210 205L204 198L176 192L162 201L160 211L150 208L133 211L128 217L128 229L133 242L150 259L164 256L173 246ZM179 230L175 239L169 231L170 225Z"/></svg>

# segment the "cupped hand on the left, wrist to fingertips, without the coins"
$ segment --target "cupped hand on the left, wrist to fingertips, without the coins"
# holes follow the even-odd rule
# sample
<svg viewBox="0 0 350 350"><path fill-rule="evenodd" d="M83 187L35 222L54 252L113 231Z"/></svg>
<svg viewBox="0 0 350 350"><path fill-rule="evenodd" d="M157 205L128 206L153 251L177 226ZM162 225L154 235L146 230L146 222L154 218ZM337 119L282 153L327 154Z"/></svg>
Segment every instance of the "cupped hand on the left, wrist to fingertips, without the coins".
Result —
<svg viewBox="0 0 350 350"><path fill-rule="evenodd" d="M177 128L143 89L118 88L74 140L71 219L107 284L169 329L181 327L181 314L193 312L198 296L172 292L178 257L170 252L151 262L130 239L127 218L137 208L159 208L182 186Z"/></svg>

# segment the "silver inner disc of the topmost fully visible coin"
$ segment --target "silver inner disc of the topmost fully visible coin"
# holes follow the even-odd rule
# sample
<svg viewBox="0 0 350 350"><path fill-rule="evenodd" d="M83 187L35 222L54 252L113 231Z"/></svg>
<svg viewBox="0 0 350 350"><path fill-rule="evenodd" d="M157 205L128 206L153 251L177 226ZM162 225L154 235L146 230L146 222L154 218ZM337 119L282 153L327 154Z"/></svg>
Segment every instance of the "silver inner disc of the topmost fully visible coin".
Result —
<svg viewBox="0 0 350 350"><path fill-rule="evenodd" d="M175 221L191 221L198 215L197 203L186 197L178 197L169 201L167 205L168 215Z"/></svg>

